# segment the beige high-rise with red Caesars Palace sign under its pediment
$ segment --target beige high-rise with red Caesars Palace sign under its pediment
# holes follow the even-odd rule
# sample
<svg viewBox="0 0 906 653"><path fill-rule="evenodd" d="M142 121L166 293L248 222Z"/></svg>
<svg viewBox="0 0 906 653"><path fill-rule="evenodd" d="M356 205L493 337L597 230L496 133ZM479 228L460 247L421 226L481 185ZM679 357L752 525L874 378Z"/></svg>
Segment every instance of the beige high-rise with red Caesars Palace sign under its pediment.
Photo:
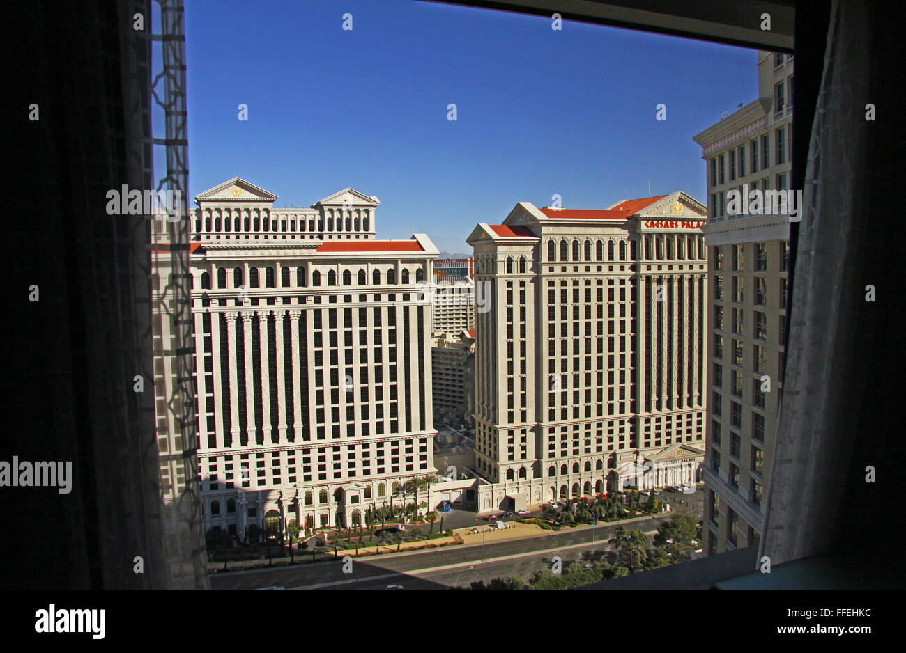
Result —
<svg viewBox="0 0 906 653"><path fill-rule="evenodd" d="M480 510L698 480L705 215L683 193L522 202L472 232Z"/></svg>

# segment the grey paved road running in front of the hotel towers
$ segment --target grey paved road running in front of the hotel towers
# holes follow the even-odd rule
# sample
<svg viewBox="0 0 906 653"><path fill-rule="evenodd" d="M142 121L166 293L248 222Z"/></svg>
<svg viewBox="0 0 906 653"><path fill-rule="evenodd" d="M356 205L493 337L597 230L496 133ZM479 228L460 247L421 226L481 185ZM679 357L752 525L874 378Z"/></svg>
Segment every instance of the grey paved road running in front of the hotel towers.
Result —
<svg viewBox="0 0 906 653"><path fill-rule="evenodd" d="M687 504L678 506L678 512L694 513L698 508L700 514L700 496L700 489L695 495L683 496ZM641 528L645 532L655 531L661 521L669 520L673 514L675 513L648 517L632 522L627 527ZM606 553L606 542L620 525L599 525L595 528L595 544L592 544L591 527L505 542L489 542L484 547L487 561L484 563L482 545L471 544L409 554L403 552L360 559L353 557L352 568L346 565L352 573L343 573L342 561L328 560L275 569L212 574L210 582L211 588L215 590L252 590L272 586L287 590L365 590L384 589L390 584L399 584L406 589L441 590L495 577L527 577L535 569L549 568L552 555L560 555L564 565L586 552L609 555ZM499 558L504 559L497 560Z"/></svg>

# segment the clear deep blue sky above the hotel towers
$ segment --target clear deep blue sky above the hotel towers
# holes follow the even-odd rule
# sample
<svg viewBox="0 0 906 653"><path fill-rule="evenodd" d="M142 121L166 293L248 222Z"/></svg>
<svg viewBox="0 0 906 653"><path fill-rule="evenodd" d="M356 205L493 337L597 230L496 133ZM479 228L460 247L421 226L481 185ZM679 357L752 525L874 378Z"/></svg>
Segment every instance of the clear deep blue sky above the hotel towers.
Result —
<svg viewBox="0 0 906 653"><path fill-rule="evenodd" d="M186 33L193 197L233 176L277 206L351 186L381 200L378 238L414 220L441 251L554 194L604 208L651 181L704 203L692 137L757 97L754 51L417 0L198 0Z"/></svg>

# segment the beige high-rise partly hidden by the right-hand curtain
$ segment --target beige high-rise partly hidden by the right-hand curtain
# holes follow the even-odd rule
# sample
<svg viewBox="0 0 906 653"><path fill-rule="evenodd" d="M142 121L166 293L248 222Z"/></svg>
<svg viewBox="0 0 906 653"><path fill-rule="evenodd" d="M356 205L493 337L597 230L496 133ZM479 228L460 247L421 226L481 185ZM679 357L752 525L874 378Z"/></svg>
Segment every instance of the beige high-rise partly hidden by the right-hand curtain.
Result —
<svg viewBox="0 0 906 653"><path fill-rule="evenodd" d="M730 202L733 190L763 203L790 190L793 57L758 52L757 65L759 98L695 137L707 166L712 289L707 554L758 543L783 387L790 215Z"/></svg>

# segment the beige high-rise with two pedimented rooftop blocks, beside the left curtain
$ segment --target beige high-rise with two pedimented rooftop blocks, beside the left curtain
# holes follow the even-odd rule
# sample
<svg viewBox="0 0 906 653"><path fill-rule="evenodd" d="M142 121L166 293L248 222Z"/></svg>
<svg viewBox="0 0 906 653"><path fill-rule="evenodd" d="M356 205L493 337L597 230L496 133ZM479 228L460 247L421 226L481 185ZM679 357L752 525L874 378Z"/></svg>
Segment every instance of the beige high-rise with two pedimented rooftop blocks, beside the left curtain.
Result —
<svg viewBox="0 0 906 653"><path fill-rule="evenodd" d="M192 252L206 528L364 524L435 471L424 234L374 240L374 196L310 209L239 179L198 194Z"/></svg>

